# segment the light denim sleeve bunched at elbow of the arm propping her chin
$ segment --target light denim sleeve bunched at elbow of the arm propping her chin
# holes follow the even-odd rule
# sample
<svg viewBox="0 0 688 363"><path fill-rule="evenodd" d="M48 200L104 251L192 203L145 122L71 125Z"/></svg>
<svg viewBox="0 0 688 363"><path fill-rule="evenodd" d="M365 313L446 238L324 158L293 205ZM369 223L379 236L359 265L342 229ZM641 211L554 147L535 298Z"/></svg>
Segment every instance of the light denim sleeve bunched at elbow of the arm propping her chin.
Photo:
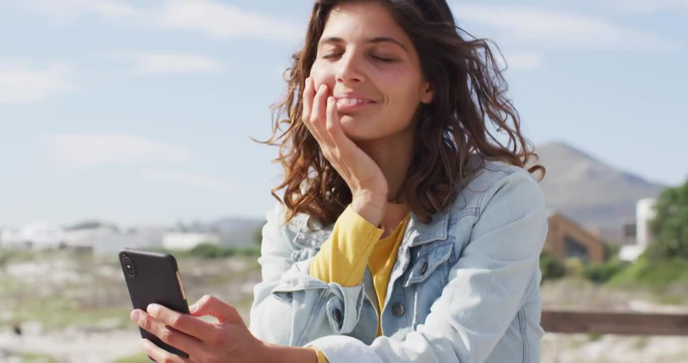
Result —
<svg viewBox="0 0 688 363"><path fill-rule="evenodd" d="M262 230L262 281L253 289L250 331L266 342L296 347L321 336L351 333L361 317L363 284L345 287L312 276L314 257L294 259L299 254L290 239L295 237L280 227L281 217L277 203Z"/></svg>

